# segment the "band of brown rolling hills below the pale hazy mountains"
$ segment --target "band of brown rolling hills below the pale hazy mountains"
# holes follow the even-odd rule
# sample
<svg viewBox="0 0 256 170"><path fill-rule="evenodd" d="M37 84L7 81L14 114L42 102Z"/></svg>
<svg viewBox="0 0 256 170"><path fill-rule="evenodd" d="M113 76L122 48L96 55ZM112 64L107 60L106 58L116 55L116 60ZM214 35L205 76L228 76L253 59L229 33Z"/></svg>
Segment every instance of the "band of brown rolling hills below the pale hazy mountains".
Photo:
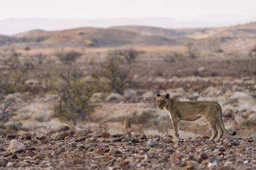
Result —
<svg viewBox="0 0 256 170"><path fill-rule="evenodd" d="M15 48L85 48L120 47L125 45L174 46L194 43L201 49L250 49L256 44L256 22L208 29L163 29L152 26L114 26L106 29L43 31L31 30L14 36L0 36L0 46Z"/></svg>

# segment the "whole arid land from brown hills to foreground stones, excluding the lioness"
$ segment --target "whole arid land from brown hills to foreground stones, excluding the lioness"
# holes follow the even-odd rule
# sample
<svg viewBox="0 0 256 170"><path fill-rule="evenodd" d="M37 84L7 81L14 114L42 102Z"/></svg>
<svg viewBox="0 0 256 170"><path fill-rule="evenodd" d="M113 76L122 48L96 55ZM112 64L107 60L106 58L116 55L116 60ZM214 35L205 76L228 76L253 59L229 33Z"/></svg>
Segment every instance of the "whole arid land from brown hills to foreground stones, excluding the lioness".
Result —
<svg viewBox="0 0 256 170"><path fill-rule="evenodd" d="M2 169L256 168L255 22L1 35L0 82ZM158 93L218 102L237 135L200 118L173 138Z"/></svg>

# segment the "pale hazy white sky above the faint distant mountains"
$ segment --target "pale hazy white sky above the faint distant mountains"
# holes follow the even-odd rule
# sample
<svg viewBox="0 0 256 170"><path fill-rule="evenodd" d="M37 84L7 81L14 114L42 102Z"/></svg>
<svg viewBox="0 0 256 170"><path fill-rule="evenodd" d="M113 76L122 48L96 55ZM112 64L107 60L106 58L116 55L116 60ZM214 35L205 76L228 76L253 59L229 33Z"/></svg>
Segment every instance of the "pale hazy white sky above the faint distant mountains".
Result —
<svg viewBox="0 0 256 170"><path fill-rule="evenodd" d="M2 0L0 20L7 18L193 19L203 16L255 17L256 0Z"/></svg>

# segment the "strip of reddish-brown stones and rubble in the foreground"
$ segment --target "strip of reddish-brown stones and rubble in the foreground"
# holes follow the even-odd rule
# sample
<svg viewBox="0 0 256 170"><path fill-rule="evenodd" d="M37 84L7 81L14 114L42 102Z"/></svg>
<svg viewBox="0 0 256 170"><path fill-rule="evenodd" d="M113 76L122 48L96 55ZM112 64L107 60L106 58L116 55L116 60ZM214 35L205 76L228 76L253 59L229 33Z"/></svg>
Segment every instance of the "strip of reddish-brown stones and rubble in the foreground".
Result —
<svg viewBox="0 0 256 170"><path fill-rule="evenodd" d="M255 169L253 137L209 140L208 136L62 129L0 137L1 169ZM66 131L65 131L66 130Z"/></svg>

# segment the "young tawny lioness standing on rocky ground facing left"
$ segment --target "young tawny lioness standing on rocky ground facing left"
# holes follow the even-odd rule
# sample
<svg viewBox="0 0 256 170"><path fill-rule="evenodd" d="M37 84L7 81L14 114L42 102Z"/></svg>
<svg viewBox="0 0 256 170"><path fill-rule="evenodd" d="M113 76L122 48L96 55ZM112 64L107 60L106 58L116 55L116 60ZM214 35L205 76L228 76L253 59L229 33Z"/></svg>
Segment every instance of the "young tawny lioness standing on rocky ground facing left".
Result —
<svg viewBox="0 0 256 170"><path fill-rule="evenodd" d="M170 118L173 122L174 136L178 137L178 126L180 120L194 121L201 117L206 119L208 125L211 128L212 136L210 139L214 139L219 134L217 138L221 138L223 135L225 126L222 120L222 109L219 103L212 101L202 101L202 102L181 102L177 99L170 98L170 94L165 95L157 94L158 109L165 108L169 111ZM217 112L220 114L217 114ZM217 128L216 128L217 126ZM224 130L223 130L224 129ZM236 135L227 132L229 135Z"/></svg>

